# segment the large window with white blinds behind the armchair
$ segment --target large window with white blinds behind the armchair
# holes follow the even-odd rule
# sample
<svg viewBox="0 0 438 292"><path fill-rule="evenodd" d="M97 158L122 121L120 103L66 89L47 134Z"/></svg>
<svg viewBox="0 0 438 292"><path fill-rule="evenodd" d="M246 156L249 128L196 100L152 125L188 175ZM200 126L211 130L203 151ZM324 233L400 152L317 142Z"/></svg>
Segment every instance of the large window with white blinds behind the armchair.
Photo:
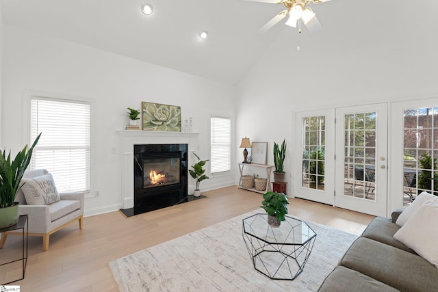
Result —
<svg viewBox="0 0 438 292"><path fill-rule="evenodd" d="M31 169L44 168L58 191L90 190L90 104L31 98L31 142L40 140Z"/></svg>

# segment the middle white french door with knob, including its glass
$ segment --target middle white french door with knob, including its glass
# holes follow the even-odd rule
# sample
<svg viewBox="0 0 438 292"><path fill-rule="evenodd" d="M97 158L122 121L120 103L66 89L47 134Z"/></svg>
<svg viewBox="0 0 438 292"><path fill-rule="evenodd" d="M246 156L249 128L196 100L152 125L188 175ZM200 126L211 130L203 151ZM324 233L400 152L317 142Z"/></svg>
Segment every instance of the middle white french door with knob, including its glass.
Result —
<svg viewBox="0 0 438 292"><path fill-rule="evenodd" d="M386 217L387 140L387 104L336 109L336 207Z"/></svg>

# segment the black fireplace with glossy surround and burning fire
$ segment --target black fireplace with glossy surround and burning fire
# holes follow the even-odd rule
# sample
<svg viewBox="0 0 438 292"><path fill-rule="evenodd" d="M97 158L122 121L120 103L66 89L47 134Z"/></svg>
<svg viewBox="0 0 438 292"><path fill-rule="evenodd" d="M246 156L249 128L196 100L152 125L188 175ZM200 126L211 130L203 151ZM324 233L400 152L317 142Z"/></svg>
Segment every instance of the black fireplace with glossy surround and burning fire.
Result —
<svg viewBox="0 0 438 292"><path fill-rule="evenodd" d="M188 200L188 144L134 145L133 154L134 215Z"/></svg>

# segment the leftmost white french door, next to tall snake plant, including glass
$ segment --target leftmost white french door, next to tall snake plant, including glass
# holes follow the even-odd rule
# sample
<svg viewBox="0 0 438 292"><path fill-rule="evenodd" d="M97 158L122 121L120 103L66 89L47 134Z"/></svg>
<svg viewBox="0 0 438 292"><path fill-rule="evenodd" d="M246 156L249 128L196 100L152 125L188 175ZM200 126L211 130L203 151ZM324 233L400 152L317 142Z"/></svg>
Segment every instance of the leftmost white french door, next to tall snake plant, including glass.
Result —
<svg viewBox="0 0 438 292"><path fill-rule="evenodd" d="M335 114L334 110L295 113L296 139L294 161L294 194L324 204L334 204L335 187Z"/></svg>

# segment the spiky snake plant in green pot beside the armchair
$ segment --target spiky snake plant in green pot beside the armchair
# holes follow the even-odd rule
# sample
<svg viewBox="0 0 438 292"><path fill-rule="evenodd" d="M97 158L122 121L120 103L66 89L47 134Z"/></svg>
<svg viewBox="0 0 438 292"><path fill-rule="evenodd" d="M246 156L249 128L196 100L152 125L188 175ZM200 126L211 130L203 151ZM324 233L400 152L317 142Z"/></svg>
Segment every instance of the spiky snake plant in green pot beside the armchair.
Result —
<svg viewBox="0 0 438 292"><path fill-rule="evenodd" d="M0 151L0 228L7 228L18 222L19 203L14 202L15 196L24 185L24 183L20 185L21 178L30 163L32 152L40 136L41 133L29 150L26 145L12 161L11 151L8 157L6 157L6 150Z"/></svg>

